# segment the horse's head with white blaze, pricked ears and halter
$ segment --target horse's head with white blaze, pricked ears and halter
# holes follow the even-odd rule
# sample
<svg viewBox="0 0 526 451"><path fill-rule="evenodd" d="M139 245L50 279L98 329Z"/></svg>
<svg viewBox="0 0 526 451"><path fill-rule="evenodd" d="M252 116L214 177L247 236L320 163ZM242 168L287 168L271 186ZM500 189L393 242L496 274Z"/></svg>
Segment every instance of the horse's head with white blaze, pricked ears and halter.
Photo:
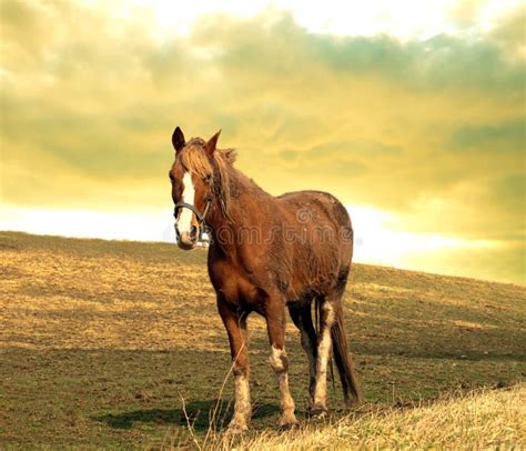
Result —
<svg viewBox="0 0 526 451"><path fill-rule="evenodd" d="M175 161L169 171L172 199L175 204L175 238L181 249L195 248L203 232L212 202L213 153L219 131L209 141L201 138L184 140L178 127L172 136Z"/></svg>

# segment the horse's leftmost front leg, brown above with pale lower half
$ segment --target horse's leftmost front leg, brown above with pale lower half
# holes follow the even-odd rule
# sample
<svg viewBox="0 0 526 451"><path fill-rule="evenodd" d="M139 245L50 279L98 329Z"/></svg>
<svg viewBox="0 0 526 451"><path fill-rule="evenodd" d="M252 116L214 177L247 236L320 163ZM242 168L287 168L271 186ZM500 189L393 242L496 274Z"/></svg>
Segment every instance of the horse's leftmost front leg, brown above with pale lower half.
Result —
<svg viewBox="0 0 526 451"><path fill-rule="evenodd" d="M240 314L237 311L233 311L232 307L221 297L218 297L218 310L229 334L230 352L233 361L235 403L234 415L229 430L243 432L249 429L251 419L246 313Z"/></svg>

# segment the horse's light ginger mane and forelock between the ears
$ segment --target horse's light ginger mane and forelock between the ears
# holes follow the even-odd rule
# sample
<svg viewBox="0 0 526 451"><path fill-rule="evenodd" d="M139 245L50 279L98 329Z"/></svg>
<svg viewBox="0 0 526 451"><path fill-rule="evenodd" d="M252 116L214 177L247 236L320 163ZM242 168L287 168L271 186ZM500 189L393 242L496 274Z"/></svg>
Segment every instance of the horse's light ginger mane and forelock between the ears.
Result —
<svg viewBox="0 0 526 451"><path fill-rule="evenodd" d="M202 179L211 180L212 192L219 200L223 216L230 220L231 216L231 178L229 169L236 159L234 149L215 149L210 158L204 148L206 142L201 138L192 138L186 142L178 159L186 171L195 173Z"/></svg>

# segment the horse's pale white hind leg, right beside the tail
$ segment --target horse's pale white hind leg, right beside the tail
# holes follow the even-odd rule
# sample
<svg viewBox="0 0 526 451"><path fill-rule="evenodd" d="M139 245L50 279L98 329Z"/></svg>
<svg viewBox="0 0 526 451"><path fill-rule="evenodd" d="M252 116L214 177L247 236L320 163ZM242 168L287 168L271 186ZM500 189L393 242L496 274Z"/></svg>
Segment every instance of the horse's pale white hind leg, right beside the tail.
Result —
<svg viewBox="0 0 526 451"><path fill-rule="evenodd" d="M325 417L327 413L327 362L331 358L331 329L334 323L334 307L328 299L320 299L320 334L317 337L316 387L311 413Z"/></svg>

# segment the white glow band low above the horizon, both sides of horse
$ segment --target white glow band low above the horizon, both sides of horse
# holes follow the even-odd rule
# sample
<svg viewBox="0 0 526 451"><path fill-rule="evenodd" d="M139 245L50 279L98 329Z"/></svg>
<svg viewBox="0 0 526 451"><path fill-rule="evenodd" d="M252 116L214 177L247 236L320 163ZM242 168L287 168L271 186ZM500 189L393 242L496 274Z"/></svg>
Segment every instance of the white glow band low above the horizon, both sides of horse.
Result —
<svg viewBox="0 0 526 451"><path fill-rule="evenodd" d="M390 229L396 217L371 207L348 207L354 228L354 261L401 269L452 272L439 265L448 251L492 250L500 243L463 240L438 234L408 233ZM88 210L23 209L10 207L0 213L0 230L74 238L175 242L171 210L100 212Z"/></svg>

